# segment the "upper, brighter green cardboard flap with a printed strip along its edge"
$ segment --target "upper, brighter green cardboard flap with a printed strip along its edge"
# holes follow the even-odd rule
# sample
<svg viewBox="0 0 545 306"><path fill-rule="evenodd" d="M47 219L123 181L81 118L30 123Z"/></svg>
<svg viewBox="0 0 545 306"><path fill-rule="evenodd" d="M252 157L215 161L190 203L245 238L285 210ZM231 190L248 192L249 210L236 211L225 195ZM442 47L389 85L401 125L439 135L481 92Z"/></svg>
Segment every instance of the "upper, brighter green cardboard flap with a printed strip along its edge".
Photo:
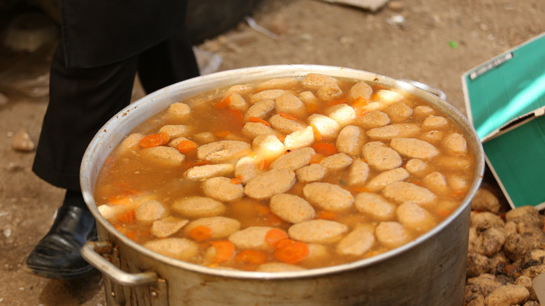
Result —
<svg viewBox="0 0 545 306"><path fill-rule="evenodd" d="M465 104L483 139L545 106L545 33L463 75Z"/></svg>

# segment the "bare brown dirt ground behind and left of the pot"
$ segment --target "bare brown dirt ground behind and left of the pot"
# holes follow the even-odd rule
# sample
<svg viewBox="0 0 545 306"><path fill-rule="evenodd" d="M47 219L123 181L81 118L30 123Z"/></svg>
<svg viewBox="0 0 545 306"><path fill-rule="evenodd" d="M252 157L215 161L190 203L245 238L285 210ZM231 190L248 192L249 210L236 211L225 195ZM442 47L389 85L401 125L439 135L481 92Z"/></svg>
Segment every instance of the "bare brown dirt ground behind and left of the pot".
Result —
<svg viewBox="0 0 545 306"><path fill-rule="evenodd" d="M400 0L372 12L317 0L263 0L254 20L275 31L277 39L241 22L198 47L221 57L219 70L324 64L409 78L441 89L447 101L465 113L461 75L545 31L543 4ZM0 20L5 27L7 19ZM50 50L3 50L3 81L10 77L3 72L24 72L28 66L44 73ZM63 193L31 172L34 151L19 152L12 146L20 129L37 142L47 96L29 97L6 88L3 94L9 101L0 103L0 306L105 305L99 274L65 282L22 270L27 254L52 224ZM141 94L136 90L135 98Z"/></svg>

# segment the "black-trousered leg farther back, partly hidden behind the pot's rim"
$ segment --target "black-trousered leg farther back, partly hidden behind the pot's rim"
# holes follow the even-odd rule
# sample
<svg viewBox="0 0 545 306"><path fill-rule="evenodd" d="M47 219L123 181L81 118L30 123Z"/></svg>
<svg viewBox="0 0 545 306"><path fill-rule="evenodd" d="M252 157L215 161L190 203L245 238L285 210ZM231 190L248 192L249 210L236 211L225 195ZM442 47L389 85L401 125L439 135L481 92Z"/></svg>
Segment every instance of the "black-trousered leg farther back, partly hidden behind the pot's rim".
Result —
<svg viewBox="0 0 545 306"><path fill-rule="evenodd" d="M140 54L138 76L147 94L199 75L198 65L185 29Z"/></svg>

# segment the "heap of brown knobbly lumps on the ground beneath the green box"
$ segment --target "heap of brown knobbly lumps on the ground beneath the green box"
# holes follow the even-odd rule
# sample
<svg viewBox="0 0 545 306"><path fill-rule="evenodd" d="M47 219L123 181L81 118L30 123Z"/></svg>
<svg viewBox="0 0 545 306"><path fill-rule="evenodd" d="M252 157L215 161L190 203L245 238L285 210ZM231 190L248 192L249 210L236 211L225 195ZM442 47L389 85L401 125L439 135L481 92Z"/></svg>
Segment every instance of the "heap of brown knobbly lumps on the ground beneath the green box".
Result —
<svg viewBox="0 0 545 306"><path fill-rule="evenodd" d="M472 201L464 305L540 305L532 279L545 272L544 216L533 206L501 211L481 187Z"/></svg>

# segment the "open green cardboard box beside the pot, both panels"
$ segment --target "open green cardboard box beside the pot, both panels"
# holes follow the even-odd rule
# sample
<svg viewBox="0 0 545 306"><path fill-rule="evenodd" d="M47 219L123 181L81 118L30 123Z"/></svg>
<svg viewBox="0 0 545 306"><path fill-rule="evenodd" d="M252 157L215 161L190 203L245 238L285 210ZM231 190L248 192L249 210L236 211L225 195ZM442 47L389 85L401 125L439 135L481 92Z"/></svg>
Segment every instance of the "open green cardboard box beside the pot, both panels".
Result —
<svg viewBox="0 0 545 306"><path fill-rule="evenodd" d="M467 117L511 207L545 208L545 33L462 75Z"/></svg>

